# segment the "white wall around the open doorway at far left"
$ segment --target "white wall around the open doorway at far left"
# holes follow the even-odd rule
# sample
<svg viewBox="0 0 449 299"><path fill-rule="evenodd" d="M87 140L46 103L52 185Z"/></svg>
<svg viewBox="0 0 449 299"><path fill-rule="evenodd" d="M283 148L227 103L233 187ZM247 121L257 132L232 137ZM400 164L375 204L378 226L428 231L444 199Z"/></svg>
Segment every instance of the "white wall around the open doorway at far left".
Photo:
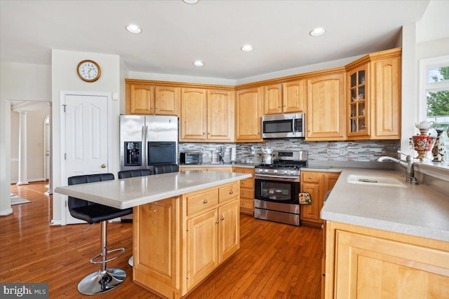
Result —
<svg viewBox="0 0 449 299"><path fill-rule="evenodd" d="M51 66L0 62L0 215L11 214L11 101L51 101Z"/></svg>

